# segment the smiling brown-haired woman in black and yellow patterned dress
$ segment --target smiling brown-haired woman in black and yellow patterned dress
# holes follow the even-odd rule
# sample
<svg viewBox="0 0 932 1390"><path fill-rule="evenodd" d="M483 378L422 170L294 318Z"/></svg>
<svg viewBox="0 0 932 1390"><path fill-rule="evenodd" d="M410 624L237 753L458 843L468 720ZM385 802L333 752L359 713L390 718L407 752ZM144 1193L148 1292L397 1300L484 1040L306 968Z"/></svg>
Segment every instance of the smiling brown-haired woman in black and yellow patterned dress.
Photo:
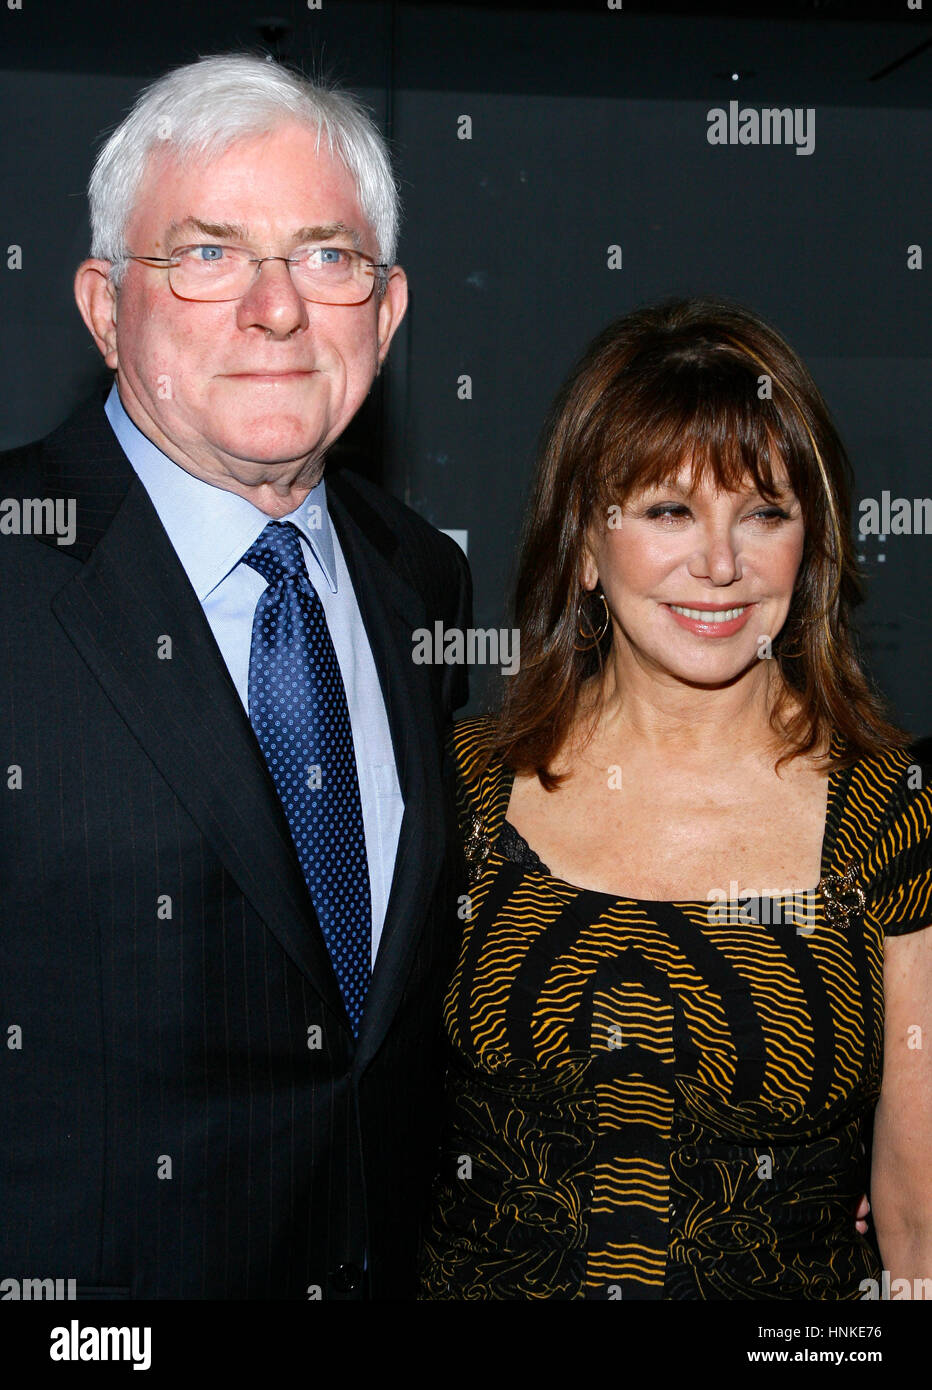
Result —
<svg viewBox="0 0 932 1390"><path fill-rule="evenodd" d="M422 1297L869 1295L875 1106L883 1268L932 1276L932 798L858 664L847 516L818 389L746 310L631 314L558 396L521 670L453 742Z"/></svg>

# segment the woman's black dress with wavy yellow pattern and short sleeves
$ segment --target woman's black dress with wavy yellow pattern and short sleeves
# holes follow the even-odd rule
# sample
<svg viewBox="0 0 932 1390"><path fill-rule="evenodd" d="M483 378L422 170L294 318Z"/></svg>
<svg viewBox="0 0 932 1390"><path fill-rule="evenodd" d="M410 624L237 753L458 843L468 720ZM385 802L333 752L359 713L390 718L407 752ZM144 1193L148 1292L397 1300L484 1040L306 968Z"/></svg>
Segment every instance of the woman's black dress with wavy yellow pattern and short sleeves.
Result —
<svg viewBox="0 0 932 1390"><path fill-rule="evenodd" d="M453 738L475 874L421 1297L863 1297L883 935L932 923L919 770L831 774L811 895L646 902L547 872L513 774L475 776L488 730Z"/></svg>

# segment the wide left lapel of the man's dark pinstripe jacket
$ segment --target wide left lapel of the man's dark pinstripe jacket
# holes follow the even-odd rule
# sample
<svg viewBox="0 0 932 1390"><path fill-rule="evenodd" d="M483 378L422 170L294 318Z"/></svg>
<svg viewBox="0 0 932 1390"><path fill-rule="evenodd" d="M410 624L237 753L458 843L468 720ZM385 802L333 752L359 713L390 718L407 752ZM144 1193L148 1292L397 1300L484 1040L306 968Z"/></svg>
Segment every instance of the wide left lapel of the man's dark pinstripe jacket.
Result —
<svg viewBox="0 0 932 1390"><path fill-rule="evenodd" d="M156 509L99 404L94 411L46 445L46 495L76 499L72 553L85 560L53 612L256 912L346 1022L288 821L236 688Z"/></svg>

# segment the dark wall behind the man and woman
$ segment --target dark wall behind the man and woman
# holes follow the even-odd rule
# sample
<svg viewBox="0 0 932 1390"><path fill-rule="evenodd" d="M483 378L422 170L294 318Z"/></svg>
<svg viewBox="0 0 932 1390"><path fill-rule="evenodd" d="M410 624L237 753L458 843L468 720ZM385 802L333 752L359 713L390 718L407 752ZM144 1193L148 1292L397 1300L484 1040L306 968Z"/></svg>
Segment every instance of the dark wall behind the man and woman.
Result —
<svg viewBox="0 0 932 1390"><path fill-rule="evenodd" d="M22 268L0 259L0 446L46 432L100 377L71 299L100 135L165 68L265 47L358 92L392 140L411 309L342 455L467 532L479 626L506 620L561 378L608 318L665 295L726 295L789 338L846 439L856 500L932 493L932 271L907 265L932 240L932 22L908 0L24 0L0 25L0 234L4 253L22 247ZM732 99L814 108L814 152L708 145L707 111ZM929 537L858 553L871 664L928 734ZM493 687L475 676L478 705Z"/></svg>

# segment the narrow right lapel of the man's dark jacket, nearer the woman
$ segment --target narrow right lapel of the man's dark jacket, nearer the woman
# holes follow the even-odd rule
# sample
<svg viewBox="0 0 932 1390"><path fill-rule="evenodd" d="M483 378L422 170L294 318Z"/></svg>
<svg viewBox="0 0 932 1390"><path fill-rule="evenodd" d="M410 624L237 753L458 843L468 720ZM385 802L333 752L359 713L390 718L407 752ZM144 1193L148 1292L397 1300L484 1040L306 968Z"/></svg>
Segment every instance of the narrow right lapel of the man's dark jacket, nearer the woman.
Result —
<svg viewBox="0 0 932 1390"><path fill-rule="evenodd" d="M392 731L404 799L382 938L363 1016L357 1066L378 1051L401 998L444 852L439 738L429 667L411 659L426 626L421 596L392 563L397 538L340 474L326 480L328 509L360 605Z"/></svg>

